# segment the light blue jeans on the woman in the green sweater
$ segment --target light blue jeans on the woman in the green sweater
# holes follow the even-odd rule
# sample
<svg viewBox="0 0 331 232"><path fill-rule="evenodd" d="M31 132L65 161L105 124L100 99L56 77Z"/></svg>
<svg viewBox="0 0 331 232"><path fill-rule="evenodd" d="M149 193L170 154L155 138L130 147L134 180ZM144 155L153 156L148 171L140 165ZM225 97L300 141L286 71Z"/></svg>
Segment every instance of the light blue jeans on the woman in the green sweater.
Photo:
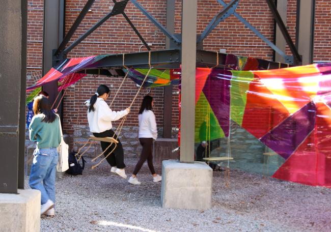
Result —
<svg viewBox="0 0 331 232"><path fill-rule="evenodd" d="M55 176L59 154L57 148L43 148L34 151L29 185L41 192L41 205L48 199L55 203Z"/></svg>

